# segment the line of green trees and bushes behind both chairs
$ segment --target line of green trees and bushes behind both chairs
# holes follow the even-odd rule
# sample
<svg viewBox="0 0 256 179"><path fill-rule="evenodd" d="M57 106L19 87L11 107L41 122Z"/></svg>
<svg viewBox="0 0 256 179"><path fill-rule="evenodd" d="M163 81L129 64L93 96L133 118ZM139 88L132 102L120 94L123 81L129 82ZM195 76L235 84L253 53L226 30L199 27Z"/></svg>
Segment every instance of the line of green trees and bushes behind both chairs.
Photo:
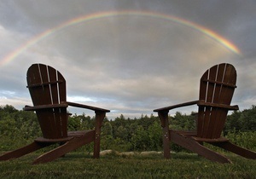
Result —
<svg viewBox="0 0 256 179"><path fill-rule="evenodd" d="M189 115L177 112L169 116L172 129L194 130L195 113ZM69 118L68 130L90 130L95 126L95 118L86 114L74 114ZM224 136L243 147L256 149L256 107L237 111L228 116ZM41 136L36 114L17 110L6 105L0 107L0 150L6 151L24 146ZM105 118L102 125L102 150L116 151L161 151L162 130L160 119L151 114L140 118L125 118L120 115L113 120ZM92 151L92 145L85 147ZM84 149L84 148L83 148ZM172 144L172 150L183 150Z"/></svg>

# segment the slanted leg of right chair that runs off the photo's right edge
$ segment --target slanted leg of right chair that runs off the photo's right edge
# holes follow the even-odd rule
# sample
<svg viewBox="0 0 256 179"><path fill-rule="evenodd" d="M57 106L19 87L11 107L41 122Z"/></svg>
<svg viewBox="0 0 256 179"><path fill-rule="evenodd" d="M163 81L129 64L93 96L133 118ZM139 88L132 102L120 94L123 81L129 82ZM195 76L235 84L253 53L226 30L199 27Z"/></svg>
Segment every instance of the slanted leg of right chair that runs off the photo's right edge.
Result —
<svg viewBox="0 0 256 179"><path fill-rule="evenodd" d="M256 159L256 153L253 151L247 150L246 148L236 146L235 144L231 143L230 141L224 141L221 143L211 143L214 146L222 147L225 150L228 150L232 153L236 153L244 158L247 159Z"/></svg>

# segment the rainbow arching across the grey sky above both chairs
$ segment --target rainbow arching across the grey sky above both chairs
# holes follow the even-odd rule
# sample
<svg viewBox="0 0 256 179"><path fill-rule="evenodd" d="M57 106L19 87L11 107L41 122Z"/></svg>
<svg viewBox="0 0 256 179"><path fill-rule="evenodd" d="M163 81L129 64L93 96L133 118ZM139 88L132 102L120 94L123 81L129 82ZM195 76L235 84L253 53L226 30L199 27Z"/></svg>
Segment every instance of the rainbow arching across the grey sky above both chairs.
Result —
<svg viewBox="0 0 256 179"><path fill-rule="evenodd" d="M38 34L37 36L33 37L23 45L21 45L18 49L15 49L12 53L9 55L6 55L2 61L0 61L0 66L3 66L9 61L14 60L20 53L22 53L24 50L31 47L33 44L38 43L43 38L49 37L51 34L61 31L62 29L66 28L67 26L73 26L76 24L79 24L81 22L86 22L89 20L96 20L100 18L108 18L111 16L117 16L117 15L139 15L139 16L148 16L152 18L160 18L160 19L166 19L166 20L172 20L173 22L182 24L184 26L189 26L190 28L193 28L199 32L202 32L206 34L209 38L212 38L213 40L217 41L218 43L221 43L226 47L227 49L230 49L231 52L236 53L237 55L240 54L240 50L236 47L235 44L230 43L229 40L221 37L216 32L212 32L210 29L207 29L204 26L200 26L198 24L195 24L194 22L191 22L189 20L184 20L182 18L178 18L169 14L160 14L160 13L154 13L154 12L148 12L148 11L131 11L131 10L124 10L124 11L109 11L109 12L100 12L95 14L87 14L83 16L79 16L77 18L74 18L72 20L68 20L64 23L62 23L59 26L55 26L45 32L42 32Z"/></svg>

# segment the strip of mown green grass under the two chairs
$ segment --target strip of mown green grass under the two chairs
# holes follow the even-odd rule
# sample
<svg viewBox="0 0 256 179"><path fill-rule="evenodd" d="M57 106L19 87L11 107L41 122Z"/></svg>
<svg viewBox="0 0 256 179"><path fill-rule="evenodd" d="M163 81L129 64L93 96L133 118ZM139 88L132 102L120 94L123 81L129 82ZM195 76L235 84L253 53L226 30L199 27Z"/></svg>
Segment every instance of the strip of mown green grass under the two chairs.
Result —
<svg viewBox="0 0 256 179"><path fill-rule="evenodd" d="M218 164L191 153L120 156L114 153L91 159L68 153L43 165L32 165L40 153L0 162L0 178L256 178L256 160L225 154L233 164Z"/></svg>

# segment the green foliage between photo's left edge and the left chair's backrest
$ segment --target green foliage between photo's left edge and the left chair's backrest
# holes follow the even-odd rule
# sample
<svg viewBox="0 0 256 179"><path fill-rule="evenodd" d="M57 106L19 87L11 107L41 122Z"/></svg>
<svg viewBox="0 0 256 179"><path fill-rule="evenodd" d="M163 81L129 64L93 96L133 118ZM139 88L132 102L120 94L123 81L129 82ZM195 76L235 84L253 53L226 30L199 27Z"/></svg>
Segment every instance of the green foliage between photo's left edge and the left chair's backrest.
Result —
<svg viewBox="0 0 256 179"><path fill-rule="evenodd" d="M35 113L0 107L0 150L16 149L41 136Z"/></svg>

